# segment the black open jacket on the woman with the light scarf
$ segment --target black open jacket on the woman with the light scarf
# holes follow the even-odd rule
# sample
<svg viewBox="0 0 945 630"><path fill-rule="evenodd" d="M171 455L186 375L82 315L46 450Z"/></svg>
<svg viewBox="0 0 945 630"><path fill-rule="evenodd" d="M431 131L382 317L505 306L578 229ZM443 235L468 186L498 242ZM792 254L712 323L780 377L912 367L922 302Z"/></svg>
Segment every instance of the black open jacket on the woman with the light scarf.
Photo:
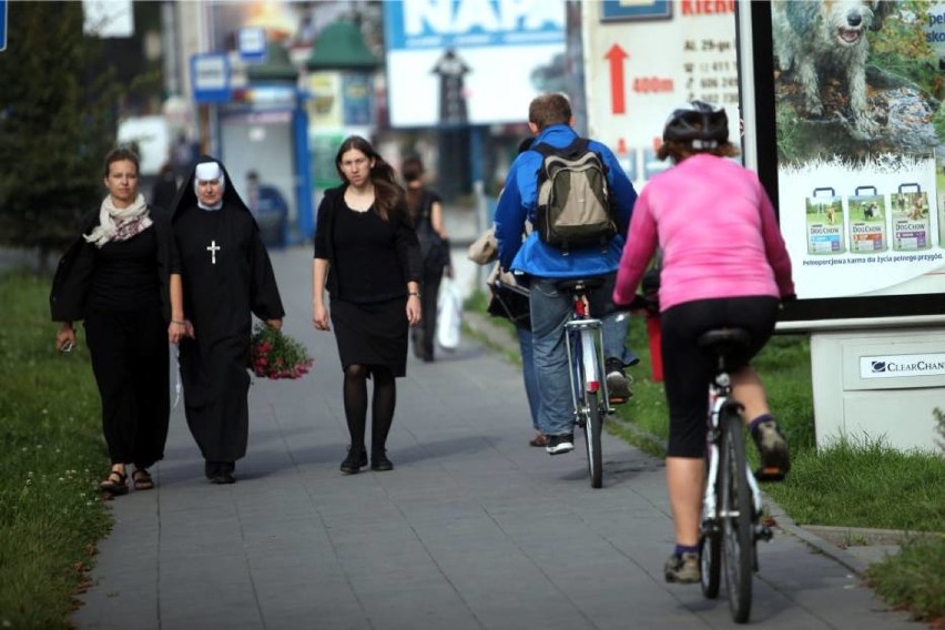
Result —
<svg viewBox="0 0 945 630"><path fill-rule="evenodd" d="M171 222L167 213L160 207L149 205L152 227L158 237L158 281L161 287L161 314L171 321L170 268L171 268ZM49 294L49 312L53 322L78 322L85 318L85 295L95 261L95 245L87 243L82 234L89 234L99 224L99 211L92 211L82 219L79 238L65 251L59 261L52 291Z"/></svg>

